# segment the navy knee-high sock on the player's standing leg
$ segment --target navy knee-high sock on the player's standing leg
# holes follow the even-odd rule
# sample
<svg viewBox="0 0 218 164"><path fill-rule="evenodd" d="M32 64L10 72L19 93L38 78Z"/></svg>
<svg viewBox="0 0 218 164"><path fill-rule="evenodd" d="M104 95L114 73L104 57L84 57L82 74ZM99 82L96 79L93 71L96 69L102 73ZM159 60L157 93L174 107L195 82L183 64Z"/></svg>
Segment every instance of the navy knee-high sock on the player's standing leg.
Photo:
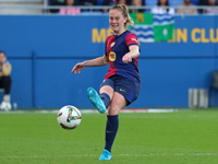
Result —
<svg viewBox="0 0 218 164"><path fill-rule="evenodd" d="M118 127L119 127L118 115L108 116L107 126L106 126L106 147L105 147L105 149L107 149L110 152L111 152L111 148L112 148L113 141L117 136Z"/></svg>

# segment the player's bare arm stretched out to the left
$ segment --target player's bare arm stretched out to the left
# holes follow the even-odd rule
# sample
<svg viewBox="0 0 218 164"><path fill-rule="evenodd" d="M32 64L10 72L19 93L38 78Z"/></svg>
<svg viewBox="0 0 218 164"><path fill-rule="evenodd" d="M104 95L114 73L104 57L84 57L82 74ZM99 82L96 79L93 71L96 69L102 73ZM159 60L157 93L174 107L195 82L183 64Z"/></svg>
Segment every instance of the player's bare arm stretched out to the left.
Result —
<svg viewBox="0 0 218 164"><path fill-rule="evenodd" d="M75 72L75 74L78 72L81 73L81 70L83 70L85 67L98 67L98 66L106 66L109 63L109 60L106 55L99 58L95 58L93 60L86 60L83 62L78 62L74 66L71 73Z"/></svg>

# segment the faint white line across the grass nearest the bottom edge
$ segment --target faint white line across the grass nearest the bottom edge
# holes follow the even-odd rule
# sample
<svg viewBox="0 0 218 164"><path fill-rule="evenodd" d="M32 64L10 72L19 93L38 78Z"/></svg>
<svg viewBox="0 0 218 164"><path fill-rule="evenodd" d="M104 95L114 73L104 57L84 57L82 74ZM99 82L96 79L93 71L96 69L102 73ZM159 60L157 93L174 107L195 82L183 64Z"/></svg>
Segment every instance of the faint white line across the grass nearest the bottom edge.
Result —
<svg viewBox="0 0 218 164"><path fill-rule="evenodd" d="M217 156L218 153L173 153L173 154L113 154L112 156ZM58 155L58 157L68 156L68 157L98 157L99 155L85 154L85 155ZM27 155L27 156L0 156L0 159L44 159L44 157L55 157L52 155Z"/></svg>

